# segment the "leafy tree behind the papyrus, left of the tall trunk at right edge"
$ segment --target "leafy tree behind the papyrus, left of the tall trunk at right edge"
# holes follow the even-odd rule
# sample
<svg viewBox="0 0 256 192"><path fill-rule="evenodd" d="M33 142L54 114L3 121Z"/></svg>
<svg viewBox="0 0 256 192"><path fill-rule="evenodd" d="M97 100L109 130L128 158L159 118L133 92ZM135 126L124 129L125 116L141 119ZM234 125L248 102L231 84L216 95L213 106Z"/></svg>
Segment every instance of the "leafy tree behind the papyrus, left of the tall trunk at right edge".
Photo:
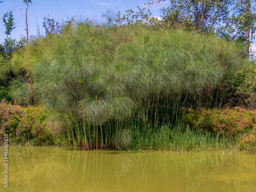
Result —
<svg viewBox="0 0 256 192"><path fill-rule="evenodd" d="M152 5L165 0L156 0L147 2L146 5ZM229 14L231 0L170 0L170 6L162 9L165 15L165 21L172 23L177 22L177 18L182 22L188 22L196 30L212 32L215 27L226 18ZM168 17L172 15L174 17ZM169 20L173 18L173 20Z"/></svg>

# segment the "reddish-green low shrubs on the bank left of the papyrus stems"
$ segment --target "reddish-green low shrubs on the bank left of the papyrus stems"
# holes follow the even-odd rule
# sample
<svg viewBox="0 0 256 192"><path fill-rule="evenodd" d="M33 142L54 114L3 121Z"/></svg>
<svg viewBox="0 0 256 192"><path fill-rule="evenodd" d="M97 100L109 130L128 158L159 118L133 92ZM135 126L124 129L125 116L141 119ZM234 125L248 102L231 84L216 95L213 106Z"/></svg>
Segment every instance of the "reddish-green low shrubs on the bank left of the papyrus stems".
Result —
<svg viewBox="0 0 256 192"><path fill-rule="evenodd" d="M48 117L40 106L23 108L19 105L0 103L0 141L8 134L10 144L50 145L53 137L46 127Z"/></svg>

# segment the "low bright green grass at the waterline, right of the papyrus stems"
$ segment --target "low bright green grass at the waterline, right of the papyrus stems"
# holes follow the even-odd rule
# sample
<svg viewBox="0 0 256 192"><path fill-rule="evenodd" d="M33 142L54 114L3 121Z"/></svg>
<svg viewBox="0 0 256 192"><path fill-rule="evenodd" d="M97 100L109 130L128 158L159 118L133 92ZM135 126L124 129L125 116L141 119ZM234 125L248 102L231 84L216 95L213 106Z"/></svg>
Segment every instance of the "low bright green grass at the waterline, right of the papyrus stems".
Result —
<svg viewBox="0 0 256 192"><path fill-rule="evenodd" d="M133 130L129 150L177 152L238 151L238 140L192 131L189 126L161 126L159 130Z"/></svg>

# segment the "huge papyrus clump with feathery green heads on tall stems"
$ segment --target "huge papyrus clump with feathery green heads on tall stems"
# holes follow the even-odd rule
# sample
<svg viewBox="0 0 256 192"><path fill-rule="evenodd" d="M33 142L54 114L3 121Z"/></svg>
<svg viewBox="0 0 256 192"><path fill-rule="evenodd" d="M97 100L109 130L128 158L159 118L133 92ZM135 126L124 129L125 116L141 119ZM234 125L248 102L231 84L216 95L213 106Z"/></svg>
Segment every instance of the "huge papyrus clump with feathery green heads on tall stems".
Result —
<svg viewBox="0 0 256 192"><path fill-rule="evenodd" d="M214 102L240 64L236 45L214 35L87 21L31 39L10 65L26 72L20 91L13 82L16 102L57 111L70 144L91 149L129 145L132 127L177 124L183 106Z"/></svg>

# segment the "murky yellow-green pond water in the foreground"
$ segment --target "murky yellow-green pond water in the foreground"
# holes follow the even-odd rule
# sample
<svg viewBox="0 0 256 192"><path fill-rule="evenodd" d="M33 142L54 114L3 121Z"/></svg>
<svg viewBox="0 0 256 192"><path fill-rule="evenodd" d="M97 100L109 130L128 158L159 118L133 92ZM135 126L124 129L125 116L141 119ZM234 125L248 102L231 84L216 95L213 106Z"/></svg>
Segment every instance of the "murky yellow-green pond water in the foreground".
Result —
<svg viewBox="0 0 256 192"><path fill-rule="evenodd" d="M10 148L8 172L0 191L256 191L255 155Z"/></svg>

